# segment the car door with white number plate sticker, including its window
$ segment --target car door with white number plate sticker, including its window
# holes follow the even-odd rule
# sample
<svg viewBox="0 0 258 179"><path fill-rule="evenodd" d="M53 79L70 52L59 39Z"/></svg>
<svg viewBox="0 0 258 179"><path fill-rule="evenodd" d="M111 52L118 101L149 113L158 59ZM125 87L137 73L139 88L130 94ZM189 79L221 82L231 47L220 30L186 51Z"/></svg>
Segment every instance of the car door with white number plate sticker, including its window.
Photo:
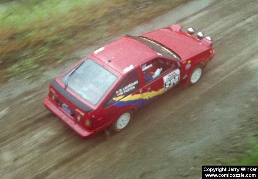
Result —
<svg viewBox="0 0 258 179"><path fill-rule="evenodd" d="M140 66L144 81L144 86L141 88L143 105L176 86L179 82L180 70L171 60L156 57Z"/></svg>

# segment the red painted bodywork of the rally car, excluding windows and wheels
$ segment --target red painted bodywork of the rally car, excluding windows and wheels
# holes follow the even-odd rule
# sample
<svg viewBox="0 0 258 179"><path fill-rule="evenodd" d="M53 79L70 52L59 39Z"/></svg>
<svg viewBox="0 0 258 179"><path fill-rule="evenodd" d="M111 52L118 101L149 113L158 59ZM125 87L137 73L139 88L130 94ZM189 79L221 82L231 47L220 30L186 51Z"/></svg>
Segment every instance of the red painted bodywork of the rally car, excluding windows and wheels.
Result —
<svg viewBox="0 0 258 179"><path fill-rule="evenodd" d="M51 83L49 86L49 96L43 100L46 108L53 112L55 116L62 119L78 135L83 138L89 138L96 132L108 128L123 112L131 109L139 109L155 97L164 93L167 90L165 87L167 84L165 83L165 79L168 79L169 74L177 71L179 78L178 83L175 83L175 85L181 84L182 86L187 87L191 77L191 70L200 62L206 64L216 53L212 47L209 46L209 44L212 44L212 41L205 39L203 41L205 43L203 44L199 39L181 31L181 26L178 25L155 30L141 36L151 38L154 41L169 47L172 51L177 53L182 60L178 61L159 56L154 50L141 42L127 36L122 37L107 44L104 48L102 47L102 49L96 50L57 77L55 84L59 86L59 90L55 89ZM95 106L73 92L69 87L64 89L65 85L60 80L61 77L88 57L117 76L117 80ZM155 80L151 81L151 83L145 85L143 71L140 66L154 58L173 61L174 64L176 64L176 67L162 73ZM131 65L133 68L129 72L124 71L125 68ZM124 98L114 101L110 106L104 106L110 99L110 96L116 92L127 74L135 69L137 70L139 89ZM87 106L91 110L84 111L82 108L78 107L78 105L67 99L67 97L60 92L60 88L73 96L80 104ZM168 89L170 89L170 87ZM56 96L56 98L51 99L51 95ZM113 97L111 99L114 100ZM73 110L74 114L70 115L62 109L60 101ZM77 121L77 116L79 114L83 114L81 116L82 119ZM92 121L92 126L86 126L84 124L86 119Z"/></svg>

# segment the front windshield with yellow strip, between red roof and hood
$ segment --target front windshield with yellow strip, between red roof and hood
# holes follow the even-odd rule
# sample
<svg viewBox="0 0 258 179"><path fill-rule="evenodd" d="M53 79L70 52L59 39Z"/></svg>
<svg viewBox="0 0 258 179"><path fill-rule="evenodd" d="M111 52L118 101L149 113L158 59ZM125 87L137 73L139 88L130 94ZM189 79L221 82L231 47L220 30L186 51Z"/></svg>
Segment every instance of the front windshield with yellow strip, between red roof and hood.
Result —
<svg viewBox="0 0 258 179"><path fill-rule="evenodd" d="M175 60L181 60L177 54L175 54L175 52L173 52L172 50L170 50L168 47L165 47L164 45L159 44L158 42L146 38L146 37L137 37L137 36L131 36L128 35L129 37L147 45L148 47L150 47L152 50L154 50L158 55L160 56L164 56L164 57L168 57L168 58L172 58Z"/></svg>

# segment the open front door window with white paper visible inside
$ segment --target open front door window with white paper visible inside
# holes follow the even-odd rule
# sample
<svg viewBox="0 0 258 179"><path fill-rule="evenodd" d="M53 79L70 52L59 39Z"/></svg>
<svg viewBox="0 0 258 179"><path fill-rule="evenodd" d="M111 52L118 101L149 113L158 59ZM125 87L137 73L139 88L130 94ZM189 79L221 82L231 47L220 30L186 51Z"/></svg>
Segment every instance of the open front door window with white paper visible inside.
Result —
<svg viewBox="0 0 258 179"><path fill-rule="evenodd" d="M169 69L175 68L175 63L161 58L154 58L141 66L144 77L144 83L147 84L151 80L157 78Z"/></svg>

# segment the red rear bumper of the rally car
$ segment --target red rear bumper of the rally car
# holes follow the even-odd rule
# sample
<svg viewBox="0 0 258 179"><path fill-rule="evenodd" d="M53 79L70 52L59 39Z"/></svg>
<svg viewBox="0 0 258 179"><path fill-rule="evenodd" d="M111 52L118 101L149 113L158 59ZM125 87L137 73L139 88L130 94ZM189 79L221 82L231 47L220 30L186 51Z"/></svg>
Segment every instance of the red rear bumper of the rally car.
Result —
<svg viewBox="0 0 258 179"><path fill-rule="evenodd" d="M90 138L92 135L95 134L94 131L89 131L85 129L80 124L76 123L68 114L62 111L62 109L59 106L56 106L52 101L49 99L49 97L46 97L43 100L44 105L46 106L49 111L51 111L56 117L61 119L63 122L65 122L70 128L72 128L79 136L82 138Z"/></svg>

